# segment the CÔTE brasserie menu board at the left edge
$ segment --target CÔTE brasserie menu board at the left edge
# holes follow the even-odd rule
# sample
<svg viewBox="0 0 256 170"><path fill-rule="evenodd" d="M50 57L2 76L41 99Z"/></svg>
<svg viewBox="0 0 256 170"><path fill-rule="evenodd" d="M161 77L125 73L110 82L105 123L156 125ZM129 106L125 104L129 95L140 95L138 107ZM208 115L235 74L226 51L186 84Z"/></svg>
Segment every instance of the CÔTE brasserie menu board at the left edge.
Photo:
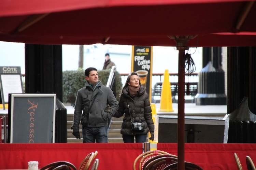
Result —
<svg viewBox="0 0 256 170"><path fill-rule="evenodd" d="M0 67L0 91L3 109L8 103L9 93L23 93L20 67Z"/></svg>

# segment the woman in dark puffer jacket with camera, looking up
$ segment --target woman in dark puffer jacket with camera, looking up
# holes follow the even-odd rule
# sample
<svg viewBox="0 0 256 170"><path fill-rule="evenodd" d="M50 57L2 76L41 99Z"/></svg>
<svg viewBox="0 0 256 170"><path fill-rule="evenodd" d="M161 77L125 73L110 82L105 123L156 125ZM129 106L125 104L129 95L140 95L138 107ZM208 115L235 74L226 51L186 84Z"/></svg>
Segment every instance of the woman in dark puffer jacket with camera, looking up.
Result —
<svg viewBox="0 0 256 170"><path fill-rule="evenodd" d="M141 86L136 72L128 75L118 105L118 112L113 117L122 117L125 115L121 129L124 142L133 143L134 136L136 143L145 142L148 131L151 134L150 140L153 141L155 129L150 100L145 88ZM139 122L141 124L144 122L144 127L141 130L132 130L131 119L133 122Z"/></svg>

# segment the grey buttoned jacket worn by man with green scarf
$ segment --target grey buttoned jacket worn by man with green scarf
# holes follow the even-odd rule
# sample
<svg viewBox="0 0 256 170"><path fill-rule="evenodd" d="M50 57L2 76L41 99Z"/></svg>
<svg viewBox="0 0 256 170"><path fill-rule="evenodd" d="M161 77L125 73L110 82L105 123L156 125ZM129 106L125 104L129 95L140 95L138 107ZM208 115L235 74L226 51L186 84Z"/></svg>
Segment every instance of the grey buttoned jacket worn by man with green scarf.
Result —
<svg viewBox="0 0 256 170"><path fill-rule="evenodd" d="M89 111L89 105L91 105L95 96L95 101ZM112 107L112 113L104 111L108 104ZM101 127L108 124L108 118L111 118L112 114L116 113L117 110L118 103L109 87L103 86L99 81L98 87L93 91L88 81L86 81L85 87L77 91L72 125L73 132L79 132L82 111L82 117L85 116L87 119L87 122L83 124L84 126Z"/></svg>

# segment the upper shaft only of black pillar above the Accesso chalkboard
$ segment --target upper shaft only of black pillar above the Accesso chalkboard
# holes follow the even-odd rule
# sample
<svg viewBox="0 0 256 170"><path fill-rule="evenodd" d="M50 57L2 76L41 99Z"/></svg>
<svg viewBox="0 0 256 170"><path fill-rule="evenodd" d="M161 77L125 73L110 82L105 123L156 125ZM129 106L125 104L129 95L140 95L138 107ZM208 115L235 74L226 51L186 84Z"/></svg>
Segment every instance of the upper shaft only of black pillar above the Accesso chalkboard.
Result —
<svg viewBox="0 0 256 170"><path fill-rule="evenodd" d="M25 44L26 93L56 93L62 102L62 46Z"/></svg>

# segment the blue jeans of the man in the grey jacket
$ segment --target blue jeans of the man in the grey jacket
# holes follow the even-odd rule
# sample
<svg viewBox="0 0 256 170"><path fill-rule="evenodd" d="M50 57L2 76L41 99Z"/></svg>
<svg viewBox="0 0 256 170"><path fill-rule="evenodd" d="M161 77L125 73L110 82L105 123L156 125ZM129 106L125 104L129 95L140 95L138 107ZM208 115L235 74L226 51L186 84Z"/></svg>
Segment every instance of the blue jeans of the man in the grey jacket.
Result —
<svg viewBox="0 0 256 170"><path fill-rule="evenodd" d="M90 128L83 126L83 142L84 143L107 143L108 142L108 125Z"/></svg>

